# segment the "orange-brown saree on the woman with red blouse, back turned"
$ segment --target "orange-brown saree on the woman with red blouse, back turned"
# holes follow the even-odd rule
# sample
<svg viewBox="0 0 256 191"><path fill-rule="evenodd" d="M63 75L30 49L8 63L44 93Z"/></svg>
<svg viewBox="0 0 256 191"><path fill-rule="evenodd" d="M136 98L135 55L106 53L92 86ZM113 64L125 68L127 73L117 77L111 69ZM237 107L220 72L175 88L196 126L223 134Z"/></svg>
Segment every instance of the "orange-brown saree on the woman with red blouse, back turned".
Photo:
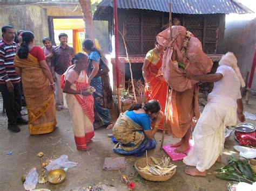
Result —
<svg viewBox="0 0 256 191"><path fill-rule="evenodd" d="M22 68L22 86L29 116L29 133L38 135L53 131L56 122L55 97L37 58L15 56L14 65Z"/></svg>

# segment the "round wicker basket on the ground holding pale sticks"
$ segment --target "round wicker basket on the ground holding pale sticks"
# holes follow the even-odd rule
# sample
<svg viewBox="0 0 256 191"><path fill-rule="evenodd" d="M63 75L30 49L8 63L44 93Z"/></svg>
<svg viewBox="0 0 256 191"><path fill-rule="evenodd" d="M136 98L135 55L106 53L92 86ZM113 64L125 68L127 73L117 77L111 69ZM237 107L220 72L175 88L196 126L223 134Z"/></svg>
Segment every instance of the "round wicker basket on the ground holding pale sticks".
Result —
<svg viewBox="0 0 256 191"><path fill-rule="evenodd" d="M159 158L156 158L159 162L161 162L162 160ZM146 180L150 180L150 181L166 181L169 180L170 178L172 178L172 176L176 173L176 168L174 168L173 173L168 174L166 176L157 176L157 175L152 175L152 174L148 174L145 172L140 171L139 167L144 168L147 165L147 162L151 165L154 165L154 162L151 160L151 158L142 158L139 159L135 162L135 168L137 170L137 172L139 173L140 176L142 176L142 178L146 179Z"/></svg>

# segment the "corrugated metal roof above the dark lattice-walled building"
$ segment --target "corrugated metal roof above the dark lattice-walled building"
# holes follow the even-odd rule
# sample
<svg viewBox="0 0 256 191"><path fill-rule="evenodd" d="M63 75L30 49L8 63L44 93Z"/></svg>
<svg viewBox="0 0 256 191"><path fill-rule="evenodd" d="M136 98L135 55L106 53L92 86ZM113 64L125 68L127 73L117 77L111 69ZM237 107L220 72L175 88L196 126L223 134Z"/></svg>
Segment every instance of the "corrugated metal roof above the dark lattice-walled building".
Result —
<svg viewBox="0 0 256 191"><path fill-rule="evenodd" d="M171 0L173 13L214 14L248 13L232 0ZM169 12L169 0L117 0L119 9L146 9ZM112 6L113 0L103 0L100 6Z"/></svg>

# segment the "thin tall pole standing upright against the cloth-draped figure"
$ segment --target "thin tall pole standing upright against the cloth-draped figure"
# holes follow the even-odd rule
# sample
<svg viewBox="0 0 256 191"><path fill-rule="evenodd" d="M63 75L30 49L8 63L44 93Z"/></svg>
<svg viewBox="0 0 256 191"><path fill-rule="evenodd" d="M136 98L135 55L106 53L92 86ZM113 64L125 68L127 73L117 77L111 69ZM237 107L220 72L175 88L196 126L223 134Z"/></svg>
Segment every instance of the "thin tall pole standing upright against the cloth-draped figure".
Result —
<svg viewBox="0 0 256 191"><path fill-rule="evenodd" d="M170 13L169 13L169 26L170 26L170 47L168 48L172 48L172 4L171 4L171 0L169 1L169 9L170 9ZM164 138L165 138L165 131L166 131L166 123L167 123L167 108L169 105L169 97L170 97L170 92L171 92L171 88L168 84L168 90L167 90L167 95L166 95L166 102L165 102L165 114L164 114L164 129L162 132L162 138L161 138L161 145L160 145L160 149L163 149L164 146Z"/></svg>

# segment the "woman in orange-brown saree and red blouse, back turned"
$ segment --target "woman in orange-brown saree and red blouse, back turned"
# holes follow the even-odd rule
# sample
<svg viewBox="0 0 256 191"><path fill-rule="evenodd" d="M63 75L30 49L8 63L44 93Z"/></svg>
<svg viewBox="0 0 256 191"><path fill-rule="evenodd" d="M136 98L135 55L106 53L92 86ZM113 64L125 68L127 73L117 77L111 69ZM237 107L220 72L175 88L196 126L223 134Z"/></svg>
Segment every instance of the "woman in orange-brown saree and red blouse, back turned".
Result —
<svg viewBox="0 0 256 191"><path fill-rule="evenodd" d="M43 51L34 46L34 38L32 32L23 32L23 43L15 56L14 65L22 79L29 115L29 133L39 135L52 132L57 122L54 82Z"/></svg>

